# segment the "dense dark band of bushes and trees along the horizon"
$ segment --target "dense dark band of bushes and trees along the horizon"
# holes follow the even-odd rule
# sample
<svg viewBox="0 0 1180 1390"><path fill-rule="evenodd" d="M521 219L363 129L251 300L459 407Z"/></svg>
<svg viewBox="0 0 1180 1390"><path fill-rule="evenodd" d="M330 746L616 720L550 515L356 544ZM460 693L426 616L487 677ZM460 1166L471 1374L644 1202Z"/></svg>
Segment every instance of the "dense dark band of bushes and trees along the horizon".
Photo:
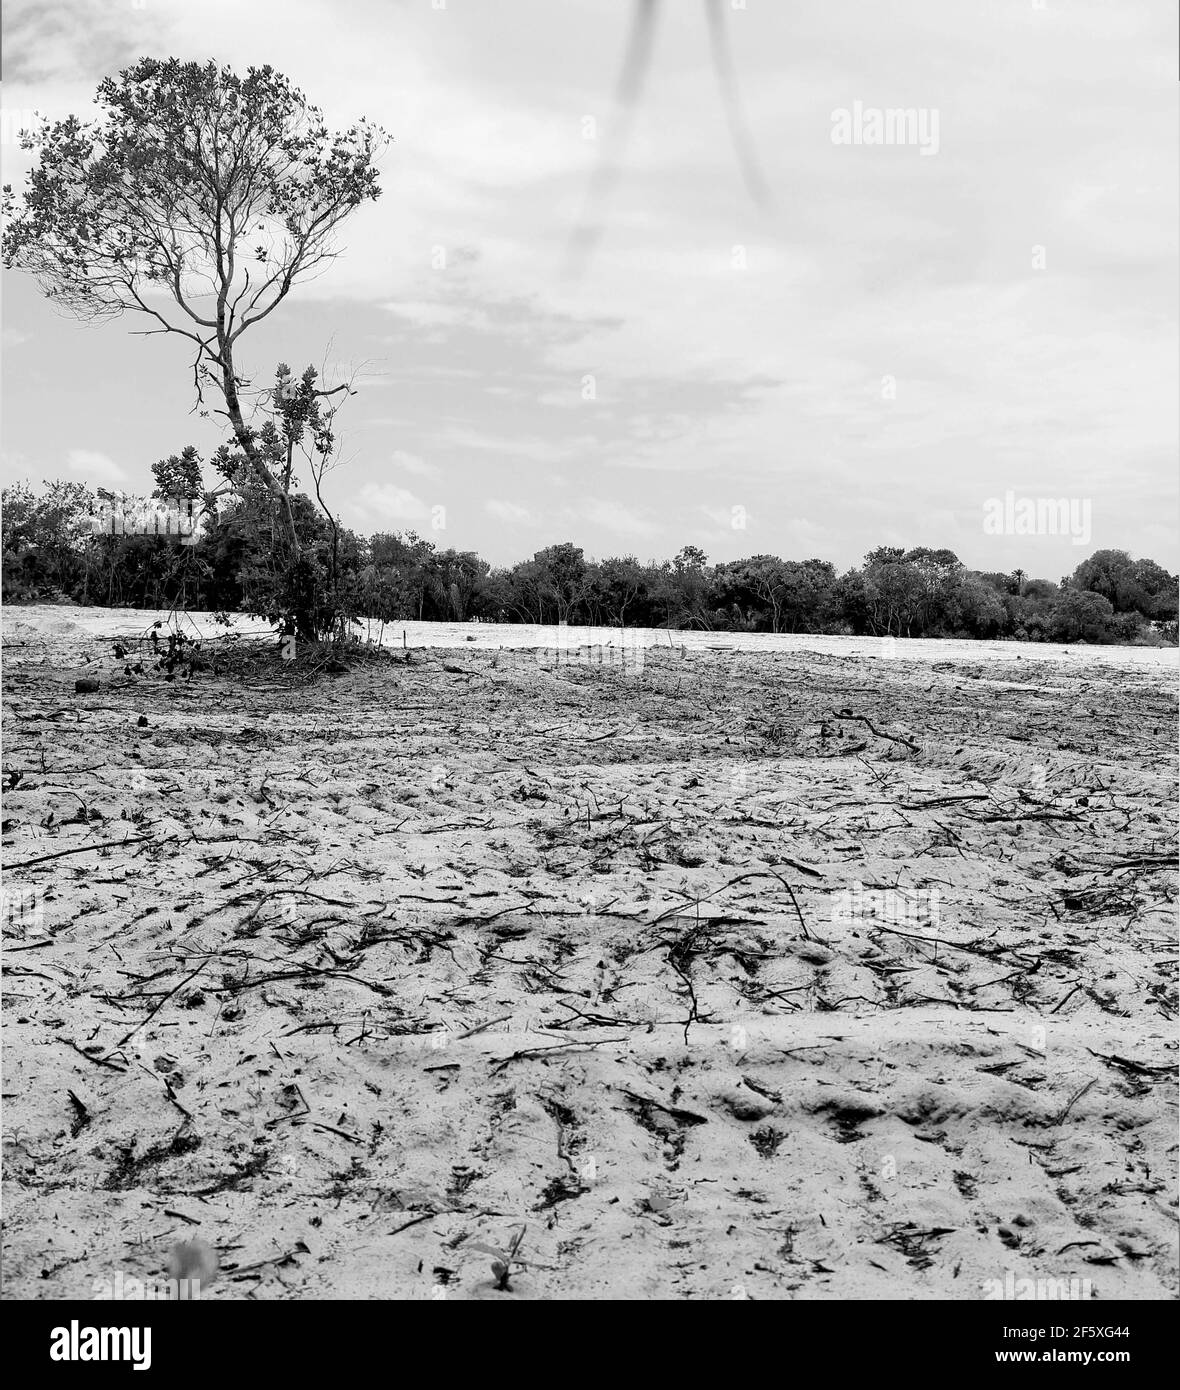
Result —
<svg viewBox="0 0 1180 1390"><path fill-rule="evenodd" d="M235 475L240 460L213 460ZM247 612L290 623L299 606L322 634L353 619L588 623L746 632L852 632L894 637L1009 637L1055 642L1174 642L1177 578L1154 560L1098 550L1052 582L966 569L951 550L878 546L838 574L827 560L755 555L709 564L696 546L673 560L587 559L570 542L509 569L471 550L442 549L414 532L356 535L309 496L292 492L299 555L285 546L284 502L238 477L204 489L195 449L154 467L157 499L197 503L192 534L135 534L151 520L142 499L81 482L3 493L7 602ZM156 503L157 506L160 503ZM122 517L113 528L111 517ZM114 530L115 534L111 534ZM175 531L175 527L172 528ZM122 532L122 534L120 534ZM296 592L297 591L297 592Z"/></svg>

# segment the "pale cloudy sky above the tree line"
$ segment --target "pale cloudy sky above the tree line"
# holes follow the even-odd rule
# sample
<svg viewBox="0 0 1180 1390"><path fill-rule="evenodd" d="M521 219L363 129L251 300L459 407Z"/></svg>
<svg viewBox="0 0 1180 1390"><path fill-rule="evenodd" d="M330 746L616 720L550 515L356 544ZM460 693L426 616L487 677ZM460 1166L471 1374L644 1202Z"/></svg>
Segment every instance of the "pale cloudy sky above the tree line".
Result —
<svg viewBox="0 0 1180 1390"><path fill-rule="evenodd" d="M363 534L496 564L574 541L1180 569L1176 6L720 0L760 202L705 0L657 7L620 138L635 3L8 0L3 178L31 165L25 113L93 115L143 56L271 64L329 125L381 124L381 199L239 345L257 381L356 375L327 496ZM898 108L913 125L871 143ZM0 292L6 484L142 493L222 441L183 341L61 317L17 271ZM1009 492L1070 500L1084 534L988 527Z"/></svg>

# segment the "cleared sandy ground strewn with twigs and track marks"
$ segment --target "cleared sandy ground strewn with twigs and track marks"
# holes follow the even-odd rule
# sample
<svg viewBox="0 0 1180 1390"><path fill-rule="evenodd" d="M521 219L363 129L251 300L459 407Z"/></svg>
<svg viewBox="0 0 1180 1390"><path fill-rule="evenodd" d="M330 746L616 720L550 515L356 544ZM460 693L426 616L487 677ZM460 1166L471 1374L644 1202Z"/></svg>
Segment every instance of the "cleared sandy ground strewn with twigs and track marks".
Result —
<svg viewBox="0 0 1180 1390"><path fill-rule="evenodd" d="M7 1297L1176 1294L1174 652L142 628L3 619Z"/></svg>

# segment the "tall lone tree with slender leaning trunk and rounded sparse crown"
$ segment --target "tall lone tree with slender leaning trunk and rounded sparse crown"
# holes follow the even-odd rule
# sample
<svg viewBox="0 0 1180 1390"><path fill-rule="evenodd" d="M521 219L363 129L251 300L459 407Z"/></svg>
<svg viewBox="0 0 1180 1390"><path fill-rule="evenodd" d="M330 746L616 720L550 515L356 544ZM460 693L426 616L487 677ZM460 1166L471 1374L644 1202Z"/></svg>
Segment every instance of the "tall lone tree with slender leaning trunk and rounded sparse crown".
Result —
<svg viewBox="0 0 1180 1390"><path fill-rule="evenodd" d="M335 256L347 214L379 196L385 133L366 121L331 132L270 67L240 78L215 63L140 58L99 83L96 104L95 121L22 135L39 163L21 197L4 188L4 264L81 318L131 310L154 321L146 334L193 345L197 403L206 386L221 398L215 413L277 500L297 566L289 484L246 418L238 345ZM316 635L310 612L293 620Z"/></svg>

